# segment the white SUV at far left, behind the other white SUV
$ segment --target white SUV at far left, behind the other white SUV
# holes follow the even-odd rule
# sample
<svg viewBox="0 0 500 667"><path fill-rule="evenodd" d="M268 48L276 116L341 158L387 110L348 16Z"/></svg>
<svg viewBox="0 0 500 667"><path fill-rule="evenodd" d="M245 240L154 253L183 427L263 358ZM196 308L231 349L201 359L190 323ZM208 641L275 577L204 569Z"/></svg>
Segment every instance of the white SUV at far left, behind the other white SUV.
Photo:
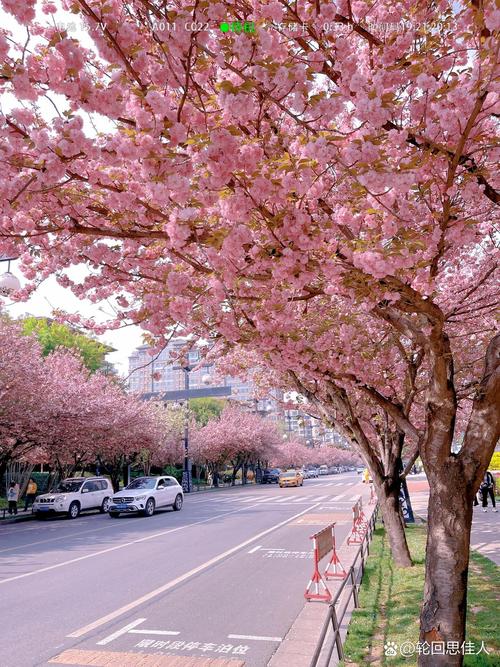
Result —
<svg viewBox="0 0 500 667"><path fill-rule="evenodd" d="M76 519L82 510L99 509L107 512L113 486L107 477L70 477L63 479L54 491L37 496L33 513L67 514Z"/></svg>

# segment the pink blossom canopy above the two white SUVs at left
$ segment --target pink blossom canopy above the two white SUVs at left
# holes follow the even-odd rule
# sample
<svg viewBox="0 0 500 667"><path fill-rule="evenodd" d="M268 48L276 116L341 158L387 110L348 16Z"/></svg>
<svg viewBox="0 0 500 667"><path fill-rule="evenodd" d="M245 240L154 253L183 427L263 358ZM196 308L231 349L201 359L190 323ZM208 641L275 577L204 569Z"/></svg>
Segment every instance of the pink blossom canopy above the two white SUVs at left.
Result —
<svg viewBox="0 0 500 667"><path fill-rule="evenodd" d="M17 323L0 320L0 347L0 478L15 460L43 461L59 476L99 463L116 487L140 452L153 463L171 456L179 429L163 406L127 395L67 349L42 357Z"/></svg>

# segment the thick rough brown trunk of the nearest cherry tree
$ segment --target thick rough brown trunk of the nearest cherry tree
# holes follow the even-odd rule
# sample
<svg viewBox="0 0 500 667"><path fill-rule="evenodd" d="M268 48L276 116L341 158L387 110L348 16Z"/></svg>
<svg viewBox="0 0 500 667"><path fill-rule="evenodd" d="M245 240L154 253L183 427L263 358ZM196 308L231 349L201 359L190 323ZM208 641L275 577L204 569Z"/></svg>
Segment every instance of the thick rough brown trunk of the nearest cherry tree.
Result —
<svg viewBox="0 0 500 667"><path fill-rule="evenodd" d="M420 640L465 640L467 575L473 491L462 479L453 479L450 465L437 479L429 478L429 517L425 559L424 603ZM458 472L458 471L457 471ZM446 479L440 479L441 477ZM451 479L450 479L451 477ZM459 667L463 655L420 655L421 667Z"/></svg>

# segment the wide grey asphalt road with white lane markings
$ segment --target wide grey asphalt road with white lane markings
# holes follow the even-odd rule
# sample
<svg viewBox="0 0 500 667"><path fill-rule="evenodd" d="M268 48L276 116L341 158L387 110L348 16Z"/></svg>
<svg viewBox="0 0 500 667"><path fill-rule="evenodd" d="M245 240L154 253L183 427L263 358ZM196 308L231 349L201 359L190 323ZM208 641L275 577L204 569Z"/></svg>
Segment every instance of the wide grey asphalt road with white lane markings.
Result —
<svg viewBox="0 0 500 667"><path fill-rule="evenodd" d="M309 536L335 518L342 542L362 487L346 473L193 494L152 518L2 526L1 665L112 651L263 667L304 604Z"/></svg>

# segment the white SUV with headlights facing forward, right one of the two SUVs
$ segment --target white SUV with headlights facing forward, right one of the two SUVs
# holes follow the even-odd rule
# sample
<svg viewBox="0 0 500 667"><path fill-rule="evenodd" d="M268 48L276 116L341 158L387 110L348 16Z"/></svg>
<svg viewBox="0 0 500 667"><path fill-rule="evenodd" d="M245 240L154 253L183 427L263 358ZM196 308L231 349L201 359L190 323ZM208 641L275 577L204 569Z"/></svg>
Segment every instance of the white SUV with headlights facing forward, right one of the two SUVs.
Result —
<svg viewBox="0 0 500 667"><path fill-rule="evenodd" d="M113 495L109 516L116 519L130 512L153 516L158 507L172 507L178 512L183 502L184 493L175 477L137 477Z"/></svg>

